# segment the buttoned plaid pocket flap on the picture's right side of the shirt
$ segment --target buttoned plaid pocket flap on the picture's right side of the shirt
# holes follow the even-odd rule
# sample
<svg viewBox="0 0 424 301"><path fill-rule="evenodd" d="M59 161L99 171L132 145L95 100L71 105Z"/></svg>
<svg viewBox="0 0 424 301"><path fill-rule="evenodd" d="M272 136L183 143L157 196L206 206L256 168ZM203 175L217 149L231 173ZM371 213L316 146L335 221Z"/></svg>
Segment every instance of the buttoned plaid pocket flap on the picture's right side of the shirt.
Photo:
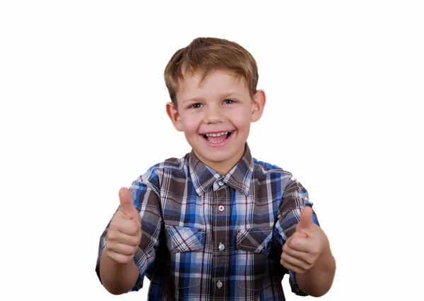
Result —
<svg viewBox="0 0 424 301"><path fill-rule="evenodd" d="M237 249L268 254L271 250L273 227L249 228L237 231Z"/></svg>

